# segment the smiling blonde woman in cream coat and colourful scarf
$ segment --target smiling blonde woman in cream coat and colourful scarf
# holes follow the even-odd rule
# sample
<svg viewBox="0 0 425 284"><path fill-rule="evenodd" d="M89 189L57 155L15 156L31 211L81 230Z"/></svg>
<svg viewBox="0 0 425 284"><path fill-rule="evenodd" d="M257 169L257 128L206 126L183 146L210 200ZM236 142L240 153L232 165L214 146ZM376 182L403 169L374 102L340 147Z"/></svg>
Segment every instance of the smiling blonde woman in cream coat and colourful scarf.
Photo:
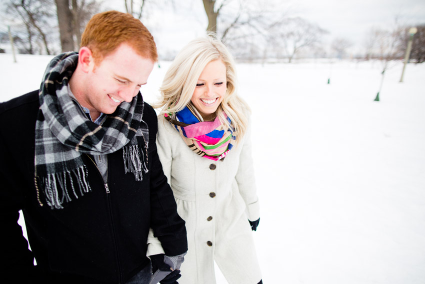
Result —
<svg viewBox="0 0 425 284"><path fill-rule="evenodd" d="M190 42L160 92L158 154L187 230L179 282L215 283L215 260L230 284L262 283L251 232L259 205L249 108L229 52L213 37Z"/></svg>

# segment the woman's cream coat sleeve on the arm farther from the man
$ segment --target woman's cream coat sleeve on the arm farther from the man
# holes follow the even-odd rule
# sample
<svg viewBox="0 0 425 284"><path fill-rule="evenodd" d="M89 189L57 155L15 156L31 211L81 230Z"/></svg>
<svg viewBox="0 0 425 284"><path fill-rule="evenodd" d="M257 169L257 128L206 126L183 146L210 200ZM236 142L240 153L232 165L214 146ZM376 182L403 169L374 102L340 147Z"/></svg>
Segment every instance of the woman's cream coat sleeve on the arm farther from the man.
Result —
<svg viewBox="0 0 425 284"><path fill-rule="evenodd" d="M248 127L243 140L239 167L236 173L236 182L240 195L246 204L248 219L255 221L259 218L259 202L256 194L256 185L254 177L254 166L252 160L252 144L251 144L251 121L248 119Z"/></svg>

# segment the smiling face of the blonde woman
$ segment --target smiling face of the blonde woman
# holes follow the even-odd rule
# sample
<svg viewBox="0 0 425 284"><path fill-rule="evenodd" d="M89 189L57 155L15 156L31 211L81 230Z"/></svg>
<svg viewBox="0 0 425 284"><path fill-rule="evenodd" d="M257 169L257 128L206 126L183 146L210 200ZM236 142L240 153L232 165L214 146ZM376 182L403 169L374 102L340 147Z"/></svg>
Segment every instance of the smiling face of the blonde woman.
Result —
<svg viewBox="0 0 425 284"><path fill-rule="evenodd" d="M226 66L221 60L209 62L200 74L191 102L204 121L215 118L215 111L227 89Z"/></svg>

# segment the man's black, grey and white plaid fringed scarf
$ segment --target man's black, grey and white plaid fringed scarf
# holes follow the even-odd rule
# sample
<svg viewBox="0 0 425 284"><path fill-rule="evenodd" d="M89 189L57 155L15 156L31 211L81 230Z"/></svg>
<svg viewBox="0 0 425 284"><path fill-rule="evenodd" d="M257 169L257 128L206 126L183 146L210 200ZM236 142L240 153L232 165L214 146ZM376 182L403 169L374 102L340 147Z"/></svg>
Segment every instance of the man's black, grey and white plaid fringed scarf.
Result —
<svg viewBox="0 0 425 284"><path fill-rule="evenodd" d="M67 85L78 54L64 53L49 63L39 90L40 108L35 123L35 187L50 208L90 191L82 154L106 155L123 149L124 171L142 180L147 172L148 130L142 120L143 98L122 102L102 126L90 121L69 97ZM138 145L143 145L139 147Z"/></svg>

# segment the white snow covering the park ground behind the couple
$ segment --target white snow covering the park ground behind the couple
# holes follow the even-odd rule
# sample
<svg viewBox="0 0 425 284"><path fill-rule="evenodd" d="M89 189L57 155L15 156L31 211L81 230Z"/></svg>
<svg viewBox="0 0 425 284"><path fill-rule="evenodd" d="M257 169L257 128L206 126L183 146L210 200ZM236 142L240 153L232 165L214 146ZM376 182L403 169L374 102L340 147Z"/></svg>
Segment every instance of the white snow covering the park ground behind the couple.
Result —
<svg viewBox="0 0 425 284"><path fill-rule="evenodd" d="M0 101L37 89L50 58L0 54ZM167 66L143 87L147 102ZM390 66L375 102L378 61L237 64L252 109L264 283L423 283L425 65L408 64L403 83L402 63Z"/></svg>

